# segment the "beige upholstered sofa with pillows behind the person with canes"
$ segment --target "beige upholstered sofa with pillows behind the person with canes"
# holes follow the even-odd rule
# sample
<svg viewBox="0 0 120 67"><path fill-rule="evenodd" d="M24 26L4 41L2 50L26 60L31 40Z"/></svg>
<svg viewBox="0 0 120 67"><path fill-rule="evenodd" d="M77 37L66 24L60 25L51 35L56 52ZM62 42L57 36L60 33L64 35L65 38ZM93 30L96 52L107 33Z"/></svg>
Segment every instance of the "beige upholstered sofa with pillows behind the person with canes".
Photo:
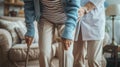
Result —
<svg viewBox="0 0 120 67"><path fill-rule="evenodd" d="M24 67L27 45L25 43L24 34L26 26L24 18L16 17L0 17L0 67ZM57 46L52 46L54 55ZM39 48L37 23L35 22L35 37L29 52L28 67L39 67ZM58 66L58 60L53 60ZM55 66L55 67L57 67Z"/></svg>

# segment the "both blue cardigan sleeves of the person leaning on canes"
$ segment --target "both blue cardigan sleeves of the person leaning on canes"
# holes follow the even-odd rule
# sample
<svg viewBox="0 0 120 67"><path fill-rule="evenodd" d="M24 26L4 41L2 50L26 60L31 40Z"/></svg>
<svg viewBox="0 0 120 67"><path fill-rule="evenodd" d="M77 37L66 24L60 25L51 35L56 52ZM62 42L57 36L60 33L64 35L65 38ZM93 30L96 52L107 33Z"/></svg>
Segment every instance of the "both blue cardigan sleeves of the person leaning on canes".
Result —
<svg viewBox="0 0 120 67"><path fill-rule="evenodd" d="M27 36L34 37L35 30L33 22L36 19L35 4L33 0L24 0L25 22L27 26ZM65 29L62 37L67 39L74 39L73 32L75 30L78 18L78 8L80 7L80 0L65 0L65 12L67 20L65 22ZM37 17L38 18L38 17Z"/></svg>

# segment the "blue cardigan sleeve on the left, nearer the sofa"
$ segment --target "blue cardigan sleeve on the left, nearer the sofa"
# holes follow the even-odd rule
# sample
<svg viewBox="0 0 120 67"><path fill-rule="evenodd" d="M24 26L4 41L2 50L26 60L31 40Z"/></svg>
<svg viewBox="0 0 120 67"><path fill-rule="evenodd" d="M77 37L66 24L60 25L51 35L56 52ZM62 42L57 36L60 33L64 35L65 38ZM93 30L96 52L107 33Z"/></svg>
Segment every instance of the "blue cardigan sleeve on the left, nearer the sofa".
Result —
<svg viewBox="0 0 120 67"><path fill-rule="evenodd" d="M33 0L24 0L24 12L25 12L25 22L27 27L27 33L25 35L34 37L34 20L35 20L35 10Z"/></svg>

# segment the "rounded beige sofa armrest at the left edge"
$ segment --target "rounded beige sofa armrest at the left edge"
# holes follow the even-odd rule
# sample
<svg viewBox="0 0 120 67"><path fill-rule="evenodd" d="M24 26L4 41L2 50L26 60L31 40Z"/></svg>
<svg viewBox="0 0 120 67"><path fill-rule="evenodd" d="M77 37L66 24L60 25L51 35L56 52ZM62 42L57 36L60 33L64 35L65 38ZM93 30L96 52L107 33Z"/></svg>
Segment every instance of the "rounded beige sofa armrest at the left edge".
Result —
<svg viewBox="0 0 120 67"><path fill-rule="evenodd" d="M0 65L8 60L7 53L12 47L12 37L5 29L0 29Z"/></svg>

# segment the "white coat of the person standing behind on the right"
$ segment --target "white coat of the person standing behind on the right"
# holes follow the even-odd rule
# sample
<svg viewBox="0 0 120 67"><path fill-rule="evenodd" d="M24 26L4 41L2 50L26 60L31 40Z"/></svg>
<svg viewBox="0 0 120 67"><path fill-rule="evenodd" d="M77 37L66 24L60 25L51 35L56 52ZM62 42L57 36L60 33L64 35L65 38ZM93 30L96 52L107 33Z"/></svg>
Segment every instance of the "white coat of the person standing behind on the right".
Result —
<svg viewBox="0 0 120 67"><path fill-rule="evenodd" d="M86 14L81 20L83 40L101 40L105 33L104 0L81 0L81 6L92 2L95 9Z"/></svg>

